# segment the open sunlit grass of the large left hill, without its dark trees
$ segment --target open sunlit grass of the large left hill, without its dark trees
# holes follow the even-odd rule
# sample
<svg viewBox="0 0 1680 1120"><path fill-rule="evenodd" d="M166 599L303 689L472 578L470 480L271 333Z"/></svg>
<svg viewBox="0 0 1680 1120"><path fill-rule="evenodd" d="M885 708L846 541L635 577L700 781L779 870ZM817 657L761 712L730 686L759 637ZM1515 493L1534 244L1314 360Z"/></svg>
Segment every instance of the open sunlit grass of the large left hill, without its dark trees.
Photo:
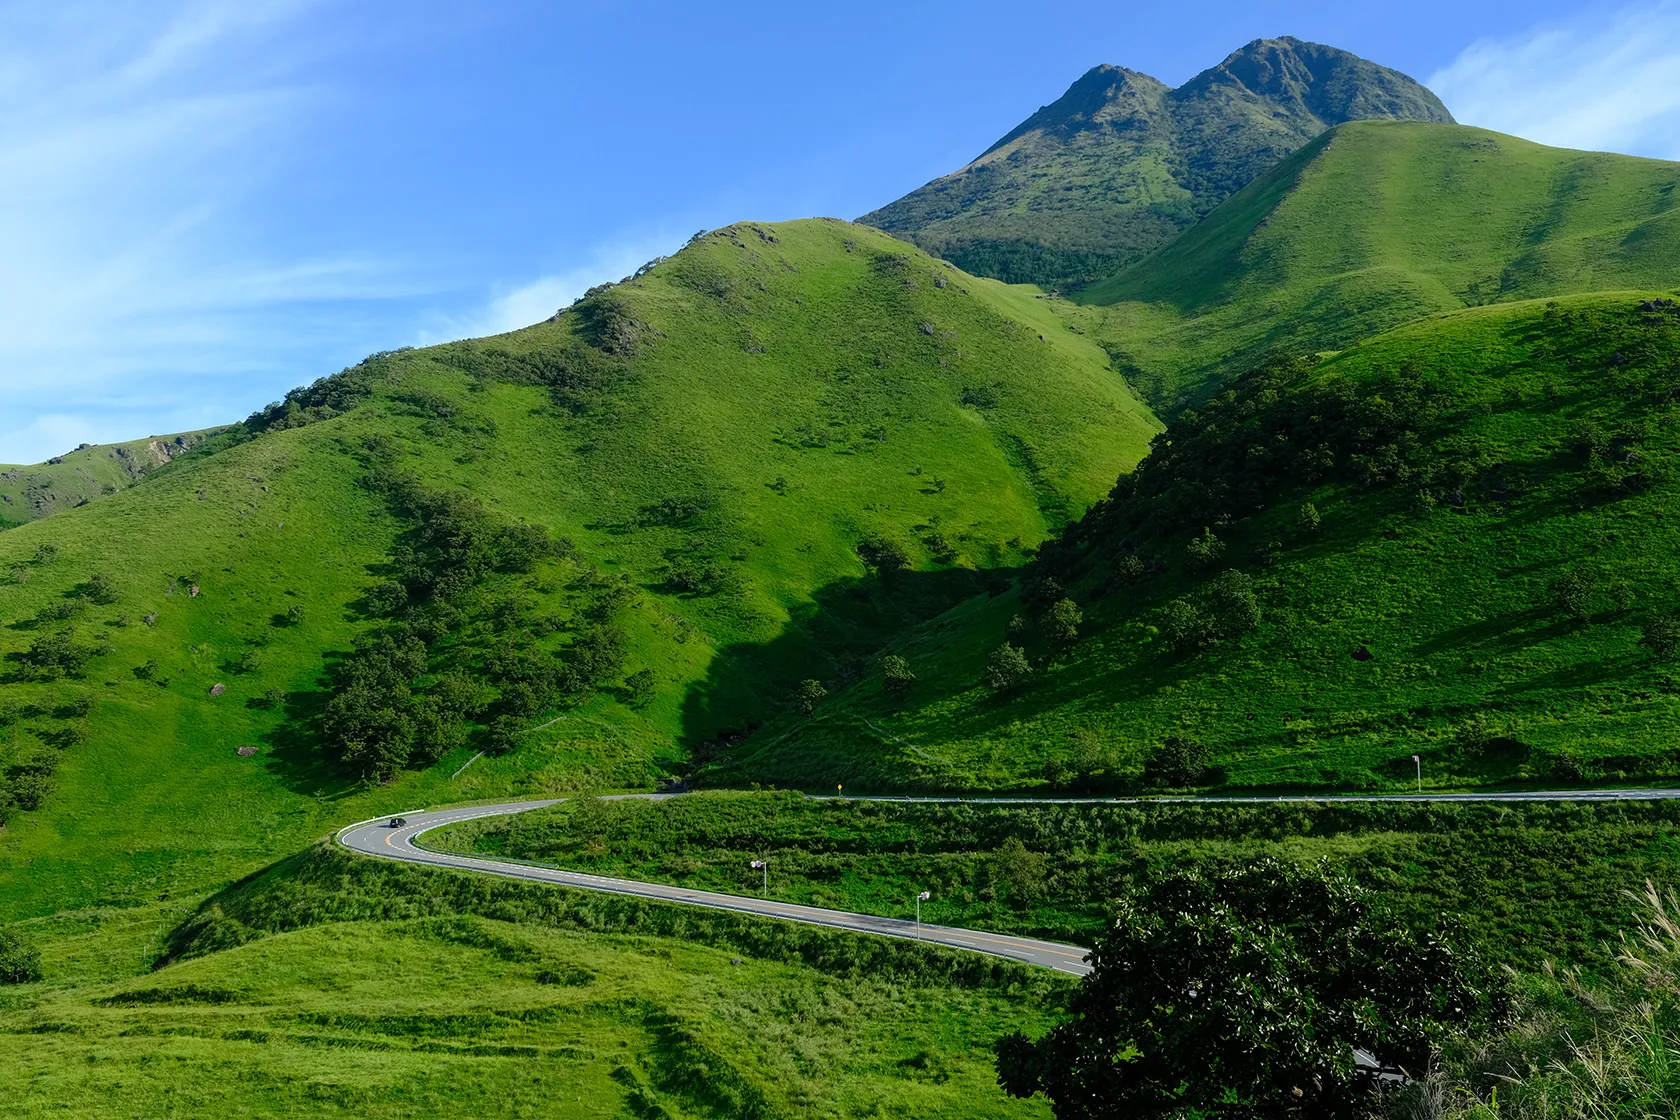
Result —
<svg viewBox="0 0 1680 1120"><path fill-rule="evenodd" d="M0 835L0 912L200 890L417 801L650 782L682 741L759 719L790 682L828 675L833 650L788 620L815 588L862 574L864 532L900 537L919 566L946 573L936 581L1006 564L1097 499L1152 430L1102 351L1060 329L1042 301L874 230L724 230L618 294L650 331L596 413L462 373L452 363L467 344L417 351L348 415L181 460L109 500L0 534L0 571L27 576L0 583L0 653L59 628L29 620L91 573L119 593L76 621L81 641L113 648L84 680L0 683L0 699L35 712L0 729L5 764L86 737L62 751L45 806ZM563 316L486 346L543 351L573 329ZM996 405L961 405L969 386L990 386ZM450 420L417 400L449 401ZM659 677L655 702L632 710L600 693L454 782L467 752L378 789L321 766L297 719L260 697L281 688L307 714L324 653L361 626L354 603L396 532L356 484L368 437L390 437L403 470L467 487L497 516L568 536L583 559L642 584L622 621L628 668ZM778 477L785 485L771 489ZM701 490L711 509L699 524L637 517ZM956 544L954 563L917 544L932 526ZM42 544L60 547L54 563L30 559ZM665 593L665 554L684 549L741 557L731 563L743 589ZM193 573L198 598L186 594ZM575 574L548 564L522 593L563 603ZM864 648L909 610L890 594L870 603L847 631ZM302 621L279 625L291 606ZM155 626L143 621L151 611ZM753 657L766 641L780 641L774 663ZM260 667L235 672L252 648ZM743 655L719 658L732 648ZM146 660L168 687L136 680ZM227 692L212 699L215 683ZM64 715L82 695L91 714ZM260 752L237 756L244 744Z"/></svg>

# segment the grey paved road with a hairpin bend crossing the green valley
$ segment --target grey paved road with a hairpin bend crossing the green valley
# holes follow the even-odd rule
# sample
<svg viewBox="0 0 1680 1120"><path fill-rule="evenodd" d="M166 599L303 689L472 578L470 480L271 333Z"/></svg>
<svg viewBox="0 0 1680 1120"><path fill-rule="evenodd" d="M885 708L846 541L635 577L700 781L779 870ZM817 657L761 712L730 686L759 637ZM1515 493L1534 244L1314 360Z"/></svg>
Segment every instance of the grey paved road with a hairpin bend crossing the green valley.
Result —
<svg viewBox="0 0 1680 1120"><path fill-rule="evenodd" d="M618 794L608 799L635 798L643 801L664 801L682 794ZM825 798L827 799L827 798ZM858 798L867 801L916 801L916 803L961 803L961 804L1147 804L1163 803L1324 803L1324 801L1675 801L1680 789L1554 789L1541 793L1445 793L1445 794L1388 794L1388 796L1285 796L1285 798ZM736 910L785 922L806 922L810 925L827 925L832 929L852 930L855 934L879 934L882 937L904 937L924 940L932 945L949 949L968 949L995 957L1008 957L1025 964L1037 964L1072 976L1085 976L1090 966L1085 964L1087 949L1079 945L1062 945L1032 937L1008 937L1005 934L986 934L981 930L958 929L953 925L919 924L907 919L884 919L874 913L850 913L847 910L825 910L822 907L803 907L791 902L774 902L769 898L751 898L744 895L726 895L714 890L689 890L685 887L669 887L664 883L642 883L628 878L608 878L603 875L585 875L561 868L533 863L514 863L509 860L484 860L479 856L457 855L452 851L433 851L415 843L422 835L486 816L511 816L559 804L563 798L549 801L502 801L497 804L464 806L455 809L433 809L425 813L402 813L381 816L371 821L349 824L338 833L338 843L363 855L381 860L402 860L405 863L425 863L457 871L479 871L484 875L501 875L504 878L522 878L538 883L554 883L558 887L575 887L578 890L603 890L615 895L635 895L659 902L675 902L690 907L709 907L712 910ZM390 821L403 823L391 828Z"/></svg>

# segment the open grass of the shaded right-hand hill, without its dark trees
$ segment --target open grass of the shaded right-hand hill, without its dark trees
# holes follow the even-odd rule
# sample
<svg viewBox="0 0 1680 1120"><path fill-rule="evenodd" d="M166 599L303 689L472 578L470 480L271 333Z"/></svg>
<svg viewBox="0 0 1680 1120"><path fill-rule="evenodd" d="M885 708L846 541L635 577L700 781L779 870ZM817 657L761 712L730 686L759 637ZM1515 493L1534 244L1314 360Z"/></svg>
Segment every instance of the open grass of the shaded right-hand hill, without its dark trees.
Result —
<svg viewBox="0 0 1680 1120"><path fill-rule="evenodd" d="M976 682L1025 608L1013 594L976 599L900 645L919 677L909 702L860 683L816 717L743 744L717 776L1042 789L1055 762L1126 789L1152 744L1184 734L1210 744L1236 786L1398 791L1411 754L1425 759L1426 786L1672 777L1677 688L1638 638L1645 618L1677 606L1673 482L1609 499L1572 450L1591 421L1645 430L1640 452L1658 477L1680 452L1675 317L1641 314L1640 299L1578 297L1561 316L1539 302L1463 311L1320 366L1315 378L1356 383L1421 369L1457 403L1425 433L1420 462L1472 443L1487 460L1460 510L1420 514L1401 485L1290 479L1258 514L1220 527L1221 566L1257 581L1260 630L1203 655L1163 648L1158 608L1201 594L1208 576L1186 569L1184 536L1142 537L1164 573L1114 589L1094 552L1068 588L1085 606L1085 636L1018 693L995 699ZM1230 435L1235 448L1262 438ZM1315 536L1297 531L1302 500L1322 512ZM1255 563L1278 547L1272 566ZM1571 623L1547 589L1578 569L1601 579L1591 625ZM1618 579L1626 604L1606 598ZM1374 658L1352 658L1361 646ZM1494 739L1514 746L1482 747Z"/></svg>

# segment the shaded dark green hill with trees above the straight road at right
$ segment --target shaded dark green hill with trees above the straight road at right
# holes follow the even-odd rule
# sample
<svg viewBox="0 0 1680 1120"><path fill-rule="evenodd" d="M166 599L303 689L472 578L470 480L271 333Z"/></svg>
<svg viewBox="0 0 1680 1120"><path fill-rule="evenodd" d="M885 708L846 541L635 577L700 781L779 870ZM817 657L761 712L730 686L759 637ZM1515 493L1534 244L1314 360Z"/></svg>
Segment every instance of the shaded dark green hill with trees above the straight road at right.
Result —
<svg viewBox="0 0 1680 1120"><path fill-rule="evenodd" d="M1018 593L900 641L902 699L877 673L716 779L1399 791L1418 754L1425 788L1672 781L1677 369L1655 294L1262 369L1183 413ZM1000 677L1005 643L1025 668Z"/></svg>

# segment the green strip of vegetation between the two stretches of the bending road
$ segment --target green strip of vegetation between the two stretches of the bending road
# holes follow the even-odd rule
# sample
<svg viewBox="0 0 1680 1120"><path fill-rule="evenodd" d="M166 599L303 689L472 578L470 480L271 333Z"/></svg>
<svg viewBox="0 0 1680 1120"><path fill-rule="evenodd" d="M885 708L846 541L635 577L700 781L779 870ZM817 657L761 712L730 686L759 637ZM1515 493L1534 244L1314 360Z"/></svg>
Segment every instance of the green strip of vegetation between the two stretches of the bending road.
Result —
<svg viewBox="0 0 1680 1120"><path fill-rule="evenodd" d="M1680 804L1045 804L816 801L699 793L568 801L427 833L511 856L862 913L1092 944L1112 900L1169 866L1329 858L1410 920L1458 913L1534 967L1603 966L1626 892L1680 880Z"/></svg>

